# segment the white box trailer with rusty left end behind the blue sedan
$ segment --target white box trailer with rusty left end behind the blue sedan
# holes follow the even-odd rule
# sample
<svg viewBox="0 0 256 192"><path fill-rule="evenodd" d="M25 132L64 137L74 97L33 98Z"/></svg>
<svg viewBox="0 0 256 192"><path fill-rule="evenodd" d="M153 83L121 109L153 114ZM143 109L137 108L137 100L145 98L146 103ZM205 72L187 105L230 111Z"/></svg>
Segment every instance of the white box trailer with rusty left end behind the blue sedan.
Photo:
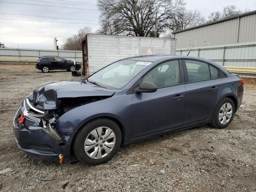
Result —
<svg viewBox="0 0 256 192"><path fill-rule="evenodd" d="M82 41L85 76L122 58L151 54L176 54L176 39L86 34Z"/></svg>

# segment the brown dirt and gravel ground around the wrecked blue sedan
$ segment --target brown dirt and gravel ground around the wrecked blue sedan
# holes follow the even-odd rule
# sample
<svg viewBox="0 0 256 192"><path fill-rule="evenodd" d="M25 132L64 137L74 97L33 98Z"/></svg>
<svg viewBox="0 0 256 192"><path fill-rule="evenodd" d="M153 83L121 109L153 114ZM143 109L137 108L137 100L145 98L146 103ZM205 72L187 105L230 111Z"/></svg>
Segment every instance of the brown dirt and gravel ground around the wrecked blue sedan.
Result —
<svg viewBox="0 0 256 192"><path fill-rule="evenodd" d="M208 125L122 146L98 166L76 158L64 164L22 152L12 134L20 103L38 85L70 80L70 72L48 74L32 65L0 65L0 191L256 191L256 82L246 79L243 107L225 129ZM48 180L48 181L46 181Z"/></svg>

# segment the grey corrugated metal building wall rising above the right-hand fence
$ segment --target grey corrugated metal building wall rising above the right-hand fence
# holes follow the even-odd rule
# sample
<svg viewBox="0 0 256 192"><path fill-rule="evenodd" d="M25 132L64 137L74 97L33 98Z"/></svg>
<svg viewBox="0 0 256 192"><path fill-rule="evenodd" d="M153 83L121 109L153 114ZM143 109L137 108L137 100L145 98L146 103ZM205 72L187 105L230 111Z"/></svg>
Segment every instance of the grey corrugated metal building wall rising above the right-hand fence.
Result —
<svg viewBox="0 0 256 192"><path fill-rule="evenodd" d="M178 32L176 48L253 42L256 41L255 31L256 13Z"/></svg>

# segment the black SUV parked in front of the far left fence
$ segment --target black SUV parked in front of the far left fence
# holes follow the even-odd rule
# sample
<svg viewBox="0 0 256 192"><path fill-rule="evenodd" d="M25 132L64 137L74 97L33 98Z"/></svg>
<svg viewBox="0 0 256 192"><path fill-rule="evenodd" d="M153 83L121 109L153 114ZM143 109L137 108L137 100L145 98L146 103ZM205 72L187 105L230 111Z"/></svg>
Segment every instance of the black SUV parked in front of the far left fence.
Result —
<svg viewBox="0 0 256 192"><path fill-rule="evenodd" d="M66 60L58 56L42 56L36 59L36 68L48 73L50 70L66 69L67 71L75 71L81 68L81 64L76 61Z"/></svg>

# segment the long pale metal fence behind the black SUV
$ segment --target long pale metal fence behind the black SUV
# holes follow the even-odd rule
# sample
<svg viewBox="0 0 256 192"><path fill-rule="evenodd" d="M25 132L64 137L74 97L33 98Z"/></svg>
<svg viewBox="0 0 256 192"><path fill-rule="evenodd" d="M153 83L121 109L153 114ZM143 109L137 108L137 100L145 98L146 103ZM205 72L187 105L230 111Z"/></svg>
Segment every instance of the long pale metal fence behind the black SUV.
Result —
<svg viewBox="0 0 256 192"><path fill-rule="evenodd" d="M82 51L0 48L0 62L34 62L39 56L60 56L68 60L82 61Z"/></svg>

